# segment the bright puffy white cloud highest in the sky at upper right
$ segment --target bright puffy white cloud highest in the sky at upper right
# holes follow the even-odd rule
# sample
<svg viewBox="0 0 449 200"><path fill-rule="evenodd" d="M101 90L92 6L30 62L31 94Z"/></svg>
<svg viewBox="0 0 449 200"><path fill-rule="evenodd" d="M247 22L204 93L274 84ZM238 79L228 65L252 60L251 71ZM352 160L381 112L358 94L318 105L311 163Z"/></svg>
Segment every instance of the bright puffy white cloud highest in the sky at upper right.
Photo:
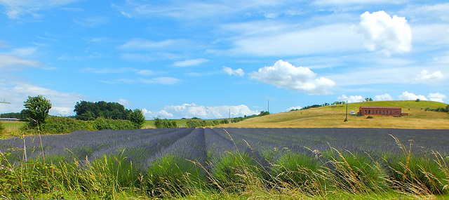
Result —
<svg viewBox="0 0 449 200"><path fill-rule="evenodd" d="M360 18L361 22L353 28L365 36L368 50L380 49L390 55L390 53L406 53L412 49L412 31L406 18L397 15L391 18L384 11L373 13L367 11Z"/></svg>

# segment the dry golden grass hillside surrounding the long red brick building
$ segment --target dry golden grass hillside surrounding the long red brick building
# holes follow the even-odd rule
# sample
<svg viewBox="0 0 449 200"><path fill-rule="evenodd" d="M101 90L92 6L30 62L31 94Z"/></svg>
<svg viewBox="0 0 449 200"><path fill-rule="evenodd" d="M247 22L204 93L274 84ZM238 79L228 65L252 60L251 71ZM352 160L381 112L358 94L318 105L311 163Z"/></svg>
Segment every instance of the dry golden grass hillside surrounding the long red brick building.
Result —
<svg viewBox="0 0 449 200"><path fill-rule="evenodd" d="M409 116L379 116L373 119L367 116L352 116L351 111L358 112L361 106L401 107ZM267 116L246 119L239 123L223 124L223 127L240 128L416 128L449 129L449 116L445 112L426 111L446 107L447 104L431 101L379 101L348 104L348 121L344 121L346 105L330 105L311 109L295 110L269 114Z"/></svg>

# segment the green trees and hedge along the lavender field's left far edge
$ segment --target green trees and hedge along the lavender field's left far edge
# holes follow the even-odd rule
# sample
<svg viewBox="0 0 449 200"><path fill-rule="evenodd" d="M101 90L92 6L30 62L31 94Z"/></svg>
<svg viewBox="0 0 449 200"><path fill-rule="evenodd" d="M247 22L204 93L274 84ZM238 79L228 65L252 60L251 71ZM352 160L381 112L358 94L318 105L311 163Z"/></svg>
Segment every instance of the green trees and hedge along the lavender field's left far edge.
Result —
<svg viewBox="0 0 449 200"><path fill-rule="evenodd" d="M100 131L103 129L138 129L145 123L141 109L125 109L118 102L76 102L74 117L49 116L52 104L42 95L28 96L25 109L20 113L1 114L27 122L24 131L39 130L43 133L70 133L76 130ZM1 124L0 124L1 125ZM0 131L2 131L0 126Z"/></svg>

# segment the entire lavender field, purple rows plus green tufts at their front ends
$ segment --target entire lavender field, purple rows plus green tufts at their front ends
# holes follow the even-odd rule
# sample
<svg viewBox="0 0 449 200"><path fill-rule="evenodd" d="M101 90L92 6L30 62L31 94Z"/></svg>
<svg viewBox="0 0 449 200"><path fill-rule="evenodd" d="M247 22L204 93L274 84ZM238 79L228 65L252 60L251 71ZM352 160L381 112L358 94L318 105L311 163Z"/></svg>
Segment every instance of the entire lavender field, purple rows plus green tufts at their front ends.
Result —
<svg viewBox="0 0 449 200"><path fill-rule="evenodd" d="M25 140L10 138L0 140L0 151L7 152L2 166L7 166L8 161L11 168L25 163L24 145L28 162L45 159L46 163L69 164L73 170L81 171L86 164L108 166L116 176L114 184L136 187L135 182L140 182L138 187L145 187L151 194L183 193L185 185L235 187L244 182L236 175L243 173L238 170L241 166L249 166L246 171L257 172L262 180L288 182L297 187L311 181L312 173L300 172L300 168L313 173L324 168L333 178L342 169L349 173L349 168L357 171L356 180L366 179L362 183L366 187L376 188L370 181L379 182L384 175L382 181L403 179L405 183L424 185L429 194L442 194L447 177L440 169L443 165L434 162L434 151L444 162L449 155L448 144L449 130L158 128L74 131L67 135L42 135L41 140L37 135ZM339 168L342 161L345 166ZM427 164L423 166L422 161ZM436 178L424 176L422 180L410 178L407 182L406 177L412 172L431 172ZM186 175L188 183L182 181ZM335 187L352 187L354 180L342 181L344 177L335 178ZM323 178L329 180L332 179ZM339 185L345 181L349 183ZM397 189L393 183L385 185ZM411 192L404 188L400 189Z"/></svg>

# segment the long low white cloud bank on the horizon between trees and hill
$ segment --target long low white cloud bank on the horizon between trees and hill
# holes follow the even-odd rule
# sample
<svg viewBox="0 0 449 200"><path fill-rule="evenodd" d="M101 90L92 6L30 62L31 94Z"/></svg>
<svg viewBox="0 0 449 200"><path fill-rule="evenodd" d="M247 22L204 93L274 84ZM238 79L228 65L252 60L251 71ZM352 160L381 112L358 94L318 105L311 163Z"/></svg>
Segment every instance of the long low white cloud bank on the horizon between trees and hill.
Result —
<svg viewBox="0 0 449 200"><path fill-rule="evenodd" d="M142 109L147 119L152 119L157 116L161 118L180 119L182 117L192 118L194 116L201 119L220 119L229 117L229 110L231 117L259 114L259 112L253 111L246 105L222 105L215 107L206 107L202 105L183 104L183 105L169 105L163 107L158 112L151 112L147 109Z"/></svg>

